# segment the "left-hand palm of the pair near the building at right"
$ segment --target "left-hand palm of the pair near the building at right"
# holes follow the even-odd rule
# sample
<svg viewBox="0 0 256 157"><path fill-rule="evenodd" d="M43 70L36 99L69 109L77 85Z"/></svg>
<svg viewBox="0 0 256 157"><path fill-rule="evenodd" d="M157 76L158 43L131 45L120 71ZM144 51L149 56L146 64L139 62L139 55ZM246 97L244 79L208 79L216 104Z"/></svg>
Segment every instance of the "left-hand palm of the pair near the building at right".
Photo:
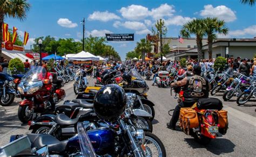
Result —
<svg viewBox="0 0 256 157"><path fill-rule="evenodd" d="M204 26L205 25L203 19L193 19L192 21L185 23L180 30L180 35L185 38L190 37L191 34L196 35L199 60L204 58L204 54L202 52L202 39L203 36L205 35Z"/></svg>

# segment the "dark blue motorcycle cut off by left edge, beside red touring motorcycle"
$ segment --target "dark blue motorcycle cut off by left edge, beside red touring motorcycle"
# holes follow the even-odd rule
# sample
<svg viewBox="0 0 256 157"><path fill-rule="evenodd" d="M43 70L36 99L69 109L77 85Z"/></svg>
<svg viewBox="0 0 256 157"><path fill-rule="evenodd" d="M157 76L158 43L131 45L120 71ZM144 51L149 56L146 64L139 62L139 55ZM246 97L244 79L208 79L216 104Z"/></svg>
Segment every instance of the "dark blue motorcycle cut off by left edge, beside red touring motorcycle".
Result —
<svg viewBox="0 0 256 157"><path fill-rule="evenodd" d="M14 102L16 95L14 78L9 74L0 72L0 105L8 106Z"/></svg>

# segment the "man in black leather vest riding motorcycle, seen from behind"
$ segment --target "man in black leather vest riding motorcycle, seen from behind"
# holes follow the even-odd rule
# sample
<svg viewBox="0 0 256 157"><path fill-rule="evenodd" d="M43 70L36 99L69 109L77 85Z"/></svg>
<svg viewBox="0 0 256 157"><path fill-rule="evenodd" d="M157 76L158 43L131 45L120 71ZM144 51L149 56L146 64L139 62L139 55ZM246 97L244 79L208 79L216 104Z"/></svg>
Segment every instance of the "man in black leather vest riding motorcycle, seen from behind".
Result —
<svg viewBox="0 0 256 157"><path fill-rule="evenodd" d="M167 127L170 129L176 129L176 123L179 119L180 108L191 107L200 98L208 98L209 84L208 81L200 76L201 67L195 65L193 67L193 76L187 76L184 79L172 83L171 86L184 86L183 87L183 101L181 101L176 107L172 115L172 119L167 123Z"/></svg>

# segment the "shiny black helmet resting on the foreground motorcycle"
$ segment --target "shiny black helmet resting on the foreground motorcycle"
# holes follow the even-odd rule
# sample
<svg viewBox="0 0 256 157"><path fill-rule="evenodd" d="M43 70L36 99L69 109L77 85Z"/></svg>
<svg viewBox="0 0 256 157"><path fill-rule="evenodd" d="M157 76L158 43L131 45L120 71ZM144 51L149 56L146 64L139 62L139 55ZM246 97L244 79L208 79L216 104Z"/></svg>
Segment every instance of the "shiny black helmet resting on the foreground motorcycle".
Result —
<svg viewBox="0 0 256 157"><path fill-rule="evenodd" d="M126 108L126 95L122 87L106 85L95 95L93 107L99 118L114 121L123 114Z"/></svg>

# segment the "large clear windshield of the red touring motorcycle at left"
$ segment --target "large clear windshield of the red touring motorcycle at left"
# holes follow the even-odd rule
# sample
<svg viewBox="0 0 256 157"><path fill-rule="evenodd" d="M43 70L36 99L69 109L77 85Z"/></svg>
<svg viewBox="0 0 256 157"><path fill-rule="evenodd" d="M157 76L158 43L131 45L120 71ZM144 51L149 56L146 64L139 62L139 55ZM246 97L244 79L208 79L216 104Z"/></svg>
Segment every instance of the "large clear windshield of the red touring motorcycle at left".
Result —
<svg viewBox="0 0 256 157"><path fill-rule="evenodd" d="M37 82L42 81L46 77L46 69L42 66L35 66L30 69L26 75L22 78L25 82Z"/></svg>

